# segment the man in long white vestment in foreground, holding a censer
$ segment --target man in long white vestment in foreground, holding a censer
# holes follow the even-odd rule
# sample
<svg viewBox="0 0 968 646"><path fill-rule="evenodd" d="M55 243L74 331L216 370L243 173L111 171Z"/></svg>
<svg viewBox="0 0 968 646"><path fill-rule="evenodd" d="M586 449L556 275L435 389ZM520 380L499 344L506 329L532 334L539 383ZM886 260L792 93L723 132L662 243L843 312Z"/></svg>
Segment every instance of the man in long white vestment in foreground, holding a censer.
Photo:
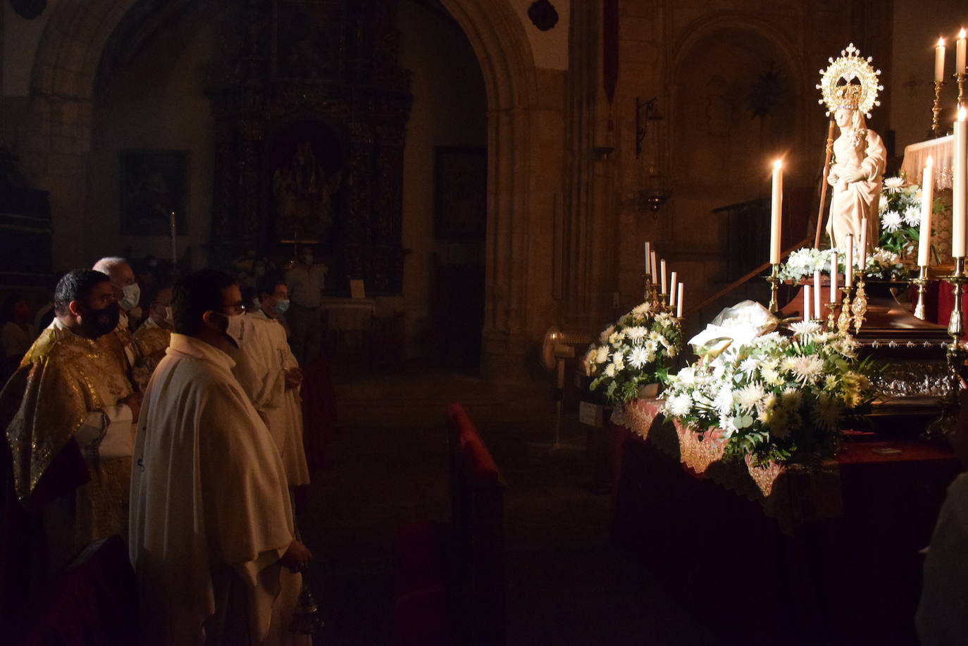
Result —
<svg viewBox="0 0 968 646"><path fill-rule="evenodd" d="M231 373L227 353L247 341L241 312L222 272L174 288L174 333L145 392L132 475L144 644L296 638L298 571L311 554L293 538L279 452Z"/></svg>

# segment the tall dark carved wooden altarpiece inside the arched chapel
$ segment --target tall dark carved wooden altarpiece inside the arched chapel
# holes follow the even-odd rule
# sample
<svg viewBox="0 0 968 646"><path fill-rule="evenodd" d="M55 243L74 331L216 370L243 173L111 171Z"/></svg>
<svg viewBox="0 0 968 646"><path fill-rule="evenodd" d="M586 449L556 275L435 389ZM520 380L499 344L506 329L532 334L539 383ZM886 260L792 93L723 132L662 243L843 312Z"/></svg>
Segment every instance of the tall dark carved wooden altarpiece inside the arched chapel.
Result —
<svg viewBox="0 0 968 646"><path fill-rule="evenodd" d="M403 284L404 138L412 97L395 0L240 0L220 28L212 261L314 241L327 288Z"/></svg>

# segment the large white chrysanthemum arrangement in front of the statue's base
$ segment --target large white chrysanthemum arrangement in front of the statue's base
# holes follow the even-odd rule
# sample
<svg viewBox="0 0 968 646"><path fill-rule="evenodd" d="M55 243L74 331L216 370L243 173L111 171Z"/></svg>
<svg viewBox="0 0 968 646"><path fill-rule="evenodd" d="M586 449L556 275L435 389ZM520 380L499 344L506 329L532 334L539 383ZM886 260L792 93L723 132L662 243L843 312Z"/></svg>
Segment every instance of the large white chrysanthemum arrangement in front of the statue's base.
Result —
<svg viewBox="0 0 968 646"><path fill-rule="evenodd" d="M733 344L668 377L663 413L699 434L721 429L724 459L816 464L831 456L845 415L873 398L872 368L853 338L799 323ZM748 456L748 457L747 457Z"/></svg>

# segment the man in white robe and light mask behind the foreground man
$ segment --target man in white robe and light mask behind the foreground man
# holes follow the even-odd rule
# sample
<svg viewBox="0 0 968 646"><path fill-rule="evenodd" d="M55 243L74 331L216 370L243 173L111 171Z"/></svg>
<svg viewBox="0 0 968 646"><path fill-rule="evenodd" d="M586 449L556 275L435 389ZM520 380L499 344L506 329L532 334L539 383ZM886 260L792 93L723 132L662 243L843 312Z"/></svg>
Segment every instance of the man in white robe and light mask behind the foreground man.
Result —
<svg viewBox="0 0 968 646"><path fill-rule="evenodd" d="M257 283L258 309L246 315L252 338L239 348L235 377L249 395L258 415L279 447L289 487L309 484L309 467L303 448L302 371L289 350L286 328L279 318L289 300L282 277L264 276Z"/></svg>

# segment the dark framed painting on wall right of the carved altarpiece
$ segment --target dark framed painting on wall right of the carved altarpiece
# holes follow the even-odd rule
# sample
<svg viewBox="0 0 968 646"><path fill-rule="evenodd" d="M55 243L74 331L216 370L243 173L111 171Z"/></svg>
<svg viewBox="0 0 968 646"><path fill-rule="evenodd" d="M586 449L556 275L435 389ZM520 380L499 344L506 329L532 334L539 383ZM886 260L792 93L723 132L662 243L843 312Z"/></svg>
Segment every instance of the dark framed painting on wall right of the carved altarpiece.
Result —
<svg viewBox="0 0 968 646"><path fill-rule="evenodd" d="M482 238L487 231L487 149L438 146L435 232Z"/></svg>

